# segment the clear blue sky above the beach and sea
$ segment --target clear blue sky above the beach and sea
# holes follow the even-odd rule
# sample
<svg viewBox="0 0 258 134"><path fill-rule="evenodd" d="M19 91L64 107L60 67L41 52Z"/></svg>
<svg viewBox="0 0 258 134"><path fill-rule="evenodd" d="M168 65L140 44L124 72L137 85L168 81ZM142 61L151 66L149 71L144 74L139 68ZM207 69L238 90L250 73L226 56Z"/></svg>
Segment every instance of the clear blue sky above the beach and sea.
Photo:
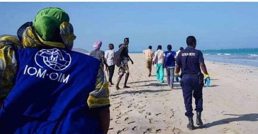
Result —
<svg viewBox="0 0 258 134"><path fill-rule="evenodd" d="M0 35L16 34L45 7L60 7L70 16L77 39L74 48L91 51L95 40L102 50L118 48L130 38L130 51L171 44L186 46L197 39L197 49L257 47L257 2L1 2Z"/></svg>

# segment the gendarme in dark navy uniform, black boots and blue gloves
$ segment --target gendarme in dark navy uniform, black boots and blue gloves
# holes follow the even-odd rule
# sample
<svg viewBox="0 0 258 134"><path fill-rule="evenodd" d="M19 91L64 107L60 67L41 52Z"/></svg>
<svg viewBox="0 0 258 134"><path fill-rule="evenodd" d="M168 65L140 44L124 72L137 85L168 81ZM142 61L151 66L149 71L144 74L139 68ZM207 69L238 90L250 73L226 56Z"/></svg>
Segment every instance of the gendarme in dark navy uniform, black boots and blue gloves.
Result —
<svg viewBox="0 0 258 134"><path fill-rule="evenodd" d="M188 117L189 124L187 127L193 130L193 113L192 113L192 94L195 98L196 112L197 112L197 125L203 125L201 120L201 112L203 111L203 78L206 77L205 83L209 86L210 78L204 64L203 54L200 50L195 49L196 39L194 36L188 36L186 38L187 47L181 50L176 58L176 68L175 75L178 77L178 73L181 69L180 75L180 85L183 90L184 104L186 113L185 116ZM204 75L201 73L201 68ZM192 93L193 92L193 93Z"/></svg>

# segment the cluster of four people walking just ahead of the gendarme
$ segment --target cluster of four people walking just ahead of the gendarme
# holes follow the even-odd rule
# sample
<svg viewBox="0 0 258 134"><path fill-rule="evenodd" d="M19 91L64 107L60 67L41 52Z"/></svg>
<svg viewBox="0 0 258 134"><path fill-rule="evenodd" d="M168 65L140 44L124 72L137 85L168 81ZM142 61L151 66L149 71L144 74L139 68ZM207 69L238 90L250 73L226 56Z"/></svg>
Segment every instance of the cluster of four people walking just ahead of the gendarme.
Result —
<svg viewBox="0 0 258 134"><path fill-rule="evenodd" d="M145 54L148 77L151 76L152 65L154 65L156 67L156 79L158 82L163 83L164 70L166 70L168 86L173 89L175 60L181 50L184 50L184 48L180 47L177 52L174 52L172 51L171 45L167 45L167 51L165 52L162 50L161 45L158 45L155 53L152 51L152 46L149 46L147 50L143 50L142 52ZM179 81L178 76L176 76L176 81Z"/></svg>

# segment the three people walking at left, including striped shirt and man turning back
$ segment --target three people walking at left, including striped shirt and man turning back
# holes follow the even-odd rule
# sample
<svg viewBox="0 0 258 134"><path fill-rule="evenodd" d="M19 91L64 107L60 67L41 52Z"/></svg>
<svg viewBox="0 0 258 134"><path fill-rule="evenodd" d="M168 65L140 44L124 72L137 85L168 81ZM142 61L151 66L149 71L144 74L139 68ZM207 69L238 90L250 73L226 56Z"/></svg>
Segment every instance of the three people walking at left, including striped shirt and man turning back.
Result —
<svg viewBox="0 0 258 134"><path fill-rule="evenodd" d="M100 40L95 41L93 44L94 50L90 52L90 56L93 56L97 58L100 61L100 68L104 70L105 65L105 71L108 71L108 84L109 86L114 85L112 82L112 78L114 75L115 66L118 67L118 80L116 83L116 89L119 88L119 83L122 79L122 77L125 74L125 83L123 88L130 88L127 86L127 81L129 78L129 67L128 67L128 61L131 61L133 64L133 60L128 55L128 45L129 45L129 38L124 39L124 43L119 44L119 50L117 52L114 52L114 44L110 43L108 45L107 51L100 50L102 46L102 42Z"/></svg>

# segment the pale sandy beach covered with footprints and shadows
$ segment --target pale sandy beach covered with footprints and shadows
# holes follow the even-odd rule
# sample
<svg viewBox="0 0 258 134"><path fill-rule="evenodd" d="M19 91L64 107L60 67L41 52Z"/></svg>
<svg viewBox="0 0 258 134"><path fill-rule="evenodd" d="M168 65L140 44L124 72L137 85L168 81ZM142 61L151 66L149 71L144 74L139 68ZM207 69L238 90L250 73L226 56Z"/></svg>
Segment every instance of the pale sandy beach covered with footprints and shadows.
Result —
<svg viewBox="0 0 258 134"><path fill-rule="evenodd" d="M111 87L111 121L109 134L257 134L258 68L205 61L211 77L210 87L203 88L203 126L188 130L184 100L179 82L170 90L165 83L147 76L144 54L130 54L133 80L131 88ZM164 72L166 74L166 72ZM117 68L113 82L117 82ZM120 88L124 84L124 77ZM194 99L193 99L194 101ZM193 103L193 109L195 105ZM196 113L193 111L196 126Z"/></svg>

